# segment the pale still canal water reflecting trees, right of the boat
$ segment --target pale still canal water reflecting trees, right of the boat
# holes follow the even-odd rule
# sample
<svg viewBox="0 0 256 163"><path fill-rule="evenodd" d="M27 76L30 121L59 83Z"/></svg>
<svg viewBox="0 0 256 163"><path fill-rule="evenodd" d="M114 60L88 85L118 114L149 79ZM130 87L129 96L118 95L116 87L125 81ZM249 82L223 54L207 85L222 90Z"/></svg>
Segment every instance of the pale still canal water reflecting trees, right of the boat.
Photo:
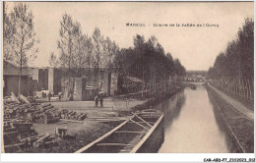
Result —
<svg viewBox="0 0 256 163"><path fill-rule="evenodd" d="M197 83L195 90L184 88L155 108L165 116L160 153L237 151L202 83Z"/></svg>

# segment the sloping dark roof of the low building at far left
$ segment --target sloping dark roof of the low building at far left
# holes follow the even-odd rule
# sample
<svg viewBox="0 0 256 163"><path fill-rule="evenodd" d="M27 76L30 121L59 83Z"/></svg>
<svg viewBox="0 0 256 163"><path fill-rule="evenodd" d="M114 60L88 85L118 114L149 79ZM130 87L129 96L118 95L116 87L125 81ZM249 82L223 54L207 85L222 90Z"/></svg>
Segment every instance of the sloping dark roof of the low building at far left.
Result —
<svg viewBox="0 0 256 163"><path fill-rule="evenodd" d="M4 60L3 75L4 76L20 76L20 68L15 66L11 62ZM31 76L31 74L23 70L22 76Z"/></svg>

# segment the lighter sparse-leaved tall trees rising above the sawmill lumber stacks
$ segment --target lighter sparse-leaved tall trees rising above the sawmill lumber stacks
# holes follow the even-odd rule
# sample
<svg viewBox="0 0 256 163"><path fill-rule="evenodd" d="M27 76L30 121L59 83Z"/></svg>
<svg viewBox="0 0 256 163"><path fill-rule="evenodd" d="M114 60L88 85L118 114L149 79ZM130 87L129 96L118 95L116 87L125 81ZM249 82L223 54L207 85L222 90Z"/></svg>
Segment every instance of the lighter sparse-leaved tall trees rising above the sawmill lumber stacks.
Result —
<svg viewBox="0 0 256 163"><path fill-rule="evenodd" d="M102 87L104 68L113 69L113 57L119 50L117 44L104 37L98 27L92 36L82 31L81 24L73 21L68 14L62 16L60 21L59 39L57 46L59 57L51 53L49 63L54 67L66 70L69 78L69 86L72 89L72 77L87 76L91 81L94 74L96 87Z"/></svg>

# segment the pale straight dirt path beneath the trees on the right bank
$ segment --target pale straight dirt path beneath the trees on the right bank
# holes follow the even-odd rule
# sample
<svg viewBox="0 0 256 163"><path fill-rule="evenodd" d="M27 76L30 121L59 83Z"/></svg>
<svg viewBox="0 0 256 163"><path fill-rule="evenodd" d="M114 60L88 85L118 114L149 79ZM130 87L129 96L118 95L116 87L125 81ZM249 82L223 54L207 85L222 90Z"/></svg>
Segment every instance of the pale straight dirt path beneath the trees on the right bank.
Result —
<svg viewBox="0 0 256 163"><path fill-rule="evenodd" d="M249 120L254 121L254 112L252 110L246 108L243 104L234 100L233 98L225 95L224 92L218 90L217 88L215 88L211 84L209 84L209 86L211 88L213 88L220 96L222 96L227 103L232 105L233 108L235 108L237 111L239 111L240 113L242 113L243 115L248 117Z"/></svg>

